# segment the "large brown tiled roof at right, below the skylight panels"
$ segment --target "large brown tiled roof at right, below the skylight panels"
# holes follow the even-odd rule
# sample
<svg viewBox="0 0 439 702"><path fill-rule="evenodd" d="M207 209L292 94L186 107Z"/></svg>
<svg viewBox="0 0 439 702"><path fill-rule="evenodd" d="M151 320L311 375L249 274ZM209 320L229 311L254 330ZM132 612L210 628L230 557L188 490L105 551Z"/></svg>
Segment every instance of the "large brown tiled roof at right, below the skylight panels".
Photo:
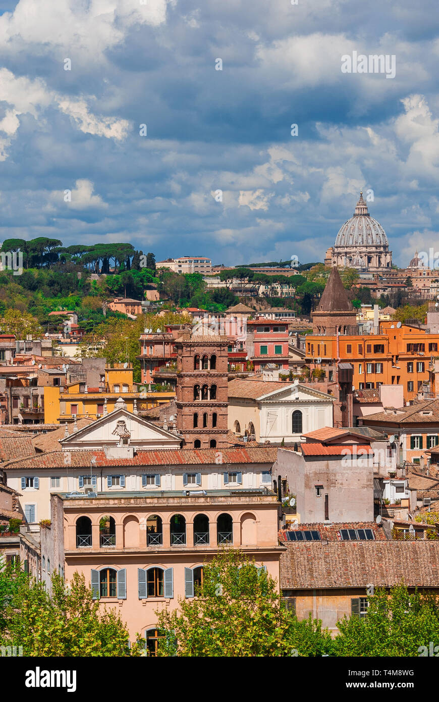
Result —
<svg viewBox="0 0 439 702"><path fill-rule="evenodd" d="M281 588L439 587L439 541L289 541Z"/></svg>

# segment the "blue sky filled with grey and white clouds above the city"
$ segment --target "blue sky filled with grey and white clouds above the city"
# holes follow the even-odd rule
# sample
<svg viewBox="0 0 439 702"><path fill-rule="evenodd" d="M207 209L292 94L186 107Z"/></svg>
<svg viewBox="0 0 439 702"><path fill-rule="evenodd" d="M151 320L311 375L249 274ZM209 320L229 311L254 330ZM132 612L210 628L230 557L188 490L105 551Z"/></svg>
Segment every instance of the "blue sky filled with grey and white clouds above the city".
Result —
<svg viewBox="0 0 439 702"><path fill-rule="evenodd" d="M0 0L0 240L305 263L363 188L407 265L439 251L438 60L437 0Z"/></svg>

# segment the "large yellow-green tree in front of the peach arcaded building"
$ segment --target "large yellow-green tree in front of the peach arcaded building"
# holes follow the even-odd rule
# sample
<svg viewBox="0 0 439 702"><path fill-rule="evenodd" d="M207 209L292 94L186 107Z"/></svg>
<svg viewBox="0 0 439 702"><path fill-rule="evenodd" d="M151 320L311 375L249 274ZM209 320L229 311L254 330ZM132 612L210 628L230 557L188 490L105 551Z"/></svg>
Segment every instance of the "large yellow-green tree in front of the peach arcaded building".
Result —
<svg viewBox="0 0 439 702"><path fill-rule="evenodd" d="M157 611L159 656L321 656L332 642L320 622L297 621L263 568L237 550L204 565L203 584L180 609Z"/></svg>

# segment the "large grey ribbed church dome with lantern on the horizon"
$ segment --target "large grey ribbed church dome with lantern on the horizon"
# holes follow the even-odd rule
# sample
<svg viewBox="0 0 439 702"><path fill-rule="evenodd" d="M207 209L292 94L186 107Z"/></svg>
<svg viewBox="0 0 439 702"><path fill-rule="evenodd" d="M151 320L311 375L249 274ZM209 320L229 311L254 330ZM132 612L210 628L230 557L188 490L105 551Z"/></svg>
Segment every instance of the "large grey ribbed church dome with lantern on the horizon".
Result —
<svg viewBox="0 0 439 702"><path fill-rule="evenodd" d="M339 230L335 244L327 249L325 265L382 272L392 266L392 252L383 227L370 216L360 192L353 213Z"/></svg>

